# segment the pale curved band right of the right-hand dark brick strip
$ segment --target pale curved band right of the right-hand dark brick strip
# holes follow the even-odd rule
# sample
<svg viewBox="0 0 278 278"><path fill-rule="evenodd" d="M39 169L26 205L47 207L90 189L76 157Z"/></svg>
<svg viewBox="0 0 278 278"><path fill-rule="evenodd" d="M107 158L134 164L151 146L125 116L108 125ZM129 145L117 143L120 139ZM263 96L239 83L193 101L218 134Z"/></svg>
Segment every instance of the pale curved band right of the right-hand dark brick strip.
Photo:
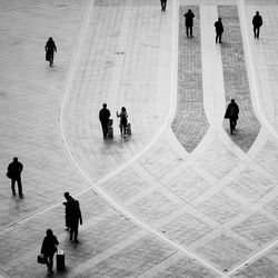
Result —
<svg viewBox="0 0 278 278"><path fill-rule="evenodd" d="M257 108L257 111L258 111L257 116L258 116L259 121L262 121L265 126L267 127L267 129L272 133L272 136L278 139L278 131L262 112L262 108L261 108L260 100L259 100L259 93L258 93L259 85L257 81L258 72L254 63L254 53L252 53L252 48L250 46L250 38L249 38L250 36L249 36L248 28L247 28L248 21L246 18L246 0L237 0L237 7L239 11L238 13L239 13L239 19L240 19L240 27L242 27L241 28L242 42L244 42L244 48L245 48L247 73L248 73L248 79L250 83L250 92L254 99L252 102L255 103Z"/></svg>

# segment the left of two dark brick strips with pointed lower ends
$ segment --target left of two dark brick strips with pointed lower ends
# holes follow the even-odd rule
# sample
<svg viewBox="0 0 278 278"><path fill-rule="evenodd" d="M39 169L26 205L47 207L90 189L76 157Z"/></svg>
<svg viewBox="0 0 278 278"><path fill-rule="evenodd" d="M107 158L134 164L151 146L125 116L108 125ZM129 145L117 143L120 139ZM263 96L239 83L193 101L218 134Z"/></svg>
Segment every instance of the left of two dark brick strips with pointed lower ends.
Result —
<svg viewBox="0 0 278 278"><path fill-rule="evenodd" d="M195 13L193 38L187 38L183 14ZM179 8L178 103L171 128L185 149L191 152L208 129L202 106L199 7Z"/></svg>

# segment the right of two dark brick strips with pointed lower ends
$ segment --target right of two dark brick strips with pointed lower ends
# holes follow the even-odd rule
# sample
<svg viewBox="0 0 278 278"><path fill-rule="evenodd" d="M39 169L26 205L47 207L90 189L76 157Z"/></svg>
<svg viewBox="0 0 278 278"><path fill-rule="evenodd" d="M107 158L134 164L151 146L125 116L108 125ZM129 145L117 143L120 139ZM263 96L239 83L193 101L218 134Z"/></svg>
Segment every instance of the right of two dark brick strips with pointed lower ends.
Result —
<svg viewBox="0 0 278 278"><path fill-rule="evenodd" d="M236 6L218 6L218 14L224 23L221 57L226 103L228 106L230 99L235 98L239 106L238 125L230 138L239 148L248 151L258 136L260 123L251 106L238 10ZM228 120L225 120L224 127L229 135Z"/></svg>

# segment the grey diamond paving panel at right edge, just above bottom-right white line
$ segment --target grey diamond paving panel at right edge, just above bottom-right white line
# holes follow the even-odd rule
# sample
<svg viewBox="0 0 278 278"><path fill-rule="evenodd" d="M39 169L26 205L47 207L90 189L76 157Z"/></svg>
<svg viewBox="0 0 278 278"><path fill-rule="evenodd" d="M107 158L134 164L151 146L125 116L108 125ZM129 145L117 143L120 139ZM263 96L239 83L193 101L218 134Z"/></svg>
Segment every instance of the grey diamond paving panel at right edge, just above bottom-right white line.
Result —
<svg viewBox="0 0 278 278"><path fill-rule="evenodd" d="M270 242L278 236L278 225L261 214L251 215L249 218L235 226L232 230L255 241L259 246Z"/></svg>

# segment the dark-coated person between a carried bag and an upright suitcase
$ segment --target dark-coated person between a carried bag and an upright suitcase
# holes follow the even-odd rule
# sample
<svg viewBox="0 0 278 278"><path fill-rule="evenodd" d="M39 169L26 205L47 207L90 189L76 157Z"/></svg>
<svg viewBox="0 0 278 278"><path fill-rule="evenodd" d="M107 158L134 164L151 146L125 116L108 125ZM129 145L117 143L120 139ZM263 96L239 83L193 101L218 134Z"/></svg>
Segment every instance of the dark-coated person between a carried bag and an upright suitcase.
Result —
<svg viewBox="0 0 278 278"><path fill-rule="evenodd" d="M47 229L47 236L44 237L41 246L41 254L47 258L48 272L53 271L53 256L57 252L57 246L59 241L53 235L51 229Z"/></svg>

